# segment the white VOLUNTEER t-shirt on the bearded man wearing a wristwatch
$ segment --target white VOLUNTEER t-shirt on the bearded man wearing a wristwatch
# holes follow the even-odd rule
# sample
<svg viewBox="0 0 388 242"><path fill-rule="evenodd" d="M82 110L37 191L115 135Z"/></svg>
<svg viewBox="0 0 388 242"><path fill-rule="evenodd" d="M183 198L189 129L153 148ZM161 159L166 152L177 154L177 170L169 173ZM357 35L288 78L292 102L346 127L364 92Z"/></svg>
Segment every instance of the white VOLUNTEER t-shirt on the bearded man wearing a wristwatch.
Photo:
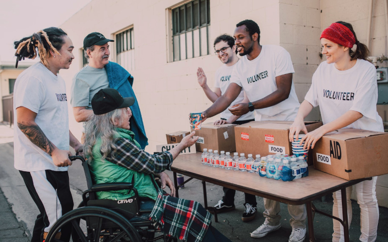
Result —
<svg viewBox="0 0 388 242"><path fill-rule="evenodd" d="M243 88L250 102L276 91L276 76L294 73L290 54L278 45L262 45L258 57L249 61L243 56L234 66L230 81ZM292 82L289 98L271 107L255 109L255 120L293 121L299 106Z"/></svg>

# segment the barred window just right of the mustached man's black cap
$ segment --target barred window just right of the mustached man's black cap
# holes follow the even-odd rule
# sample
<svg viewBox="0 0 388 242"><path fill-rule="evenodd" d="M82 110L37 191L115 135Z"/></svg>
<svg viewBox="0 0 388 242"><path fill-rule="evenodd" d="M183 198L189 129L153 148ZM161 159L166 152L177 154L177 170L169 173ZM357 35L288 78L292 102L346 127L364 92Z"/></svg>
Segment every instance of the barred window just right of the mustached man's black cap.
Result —
<svg viewBox="0 0 388 242"><path fill-rule="evenodd" d="M116 62L127 71L135 69L133 28L116 34Z"/></svg>

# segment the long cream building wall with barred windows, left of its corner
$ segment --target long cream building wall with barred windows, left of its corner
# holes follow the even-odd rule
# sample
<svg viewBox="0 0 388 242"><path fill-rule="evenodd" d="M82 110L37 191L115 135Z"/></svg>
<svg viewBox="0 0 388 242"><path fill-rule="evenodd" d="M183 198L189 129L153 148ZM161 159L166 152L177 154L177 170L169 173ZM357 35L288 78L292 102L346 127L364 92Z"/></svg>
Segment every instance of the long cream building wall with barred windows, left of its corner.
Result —
<svg viewBox="0 0 388 242"><path fill-rule="evenodd" d="M104 1L94 0L60 27L76 46L75 59L69 70L61 70L70 96L72 77L81 69L83 38L98 31L112 38L113 33L134 27L135 70L133 89L142 109L146 134L149 137L147 151L155 151L156 145L166 143L165 134L178 130L190 130L188 114L205 110L211 102L199 87L197 67L203 67L210 88L214 86L215 70L222 65L210 51L210 55L184 61L167 62L170 54L169 9L178 0ZM243 6L238 13L235 6ZM279 3L264 0L210 0L210 43L221 33L233 34L238 22L253 19L261 29L262 44L279 42ZM111 61L115 60L114 43L111 44ZM211 46L211 50L213 47ZM72 114L69 107L70 114ZM219 118L216 116L211 120ZM80 137L81 125L70 118L70 127Z"/></svg>

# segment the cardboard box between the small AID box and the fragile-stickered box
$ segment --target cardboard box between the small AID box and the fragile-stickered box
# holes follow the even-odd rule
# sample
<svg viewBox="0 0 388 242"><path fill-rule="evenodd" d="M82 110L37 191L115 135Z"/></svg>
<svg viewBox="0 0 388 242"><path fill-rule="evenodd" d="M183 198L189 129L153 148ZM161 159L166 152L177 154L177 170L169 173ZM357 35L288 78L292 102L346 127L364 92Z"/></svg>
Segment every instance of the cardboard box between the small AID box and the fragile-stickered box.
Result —
<svg viewBox="0 0 388 242"><path fill-rule="evenodd" d="M236 124L214 125L213 123L202 123L201 130L195 130L195 136L199 136L195 143L196 151L203 152L203 149L211 149L225 152L236 151L234 127ZM193 127L192 127L193 131Z"/></svg>

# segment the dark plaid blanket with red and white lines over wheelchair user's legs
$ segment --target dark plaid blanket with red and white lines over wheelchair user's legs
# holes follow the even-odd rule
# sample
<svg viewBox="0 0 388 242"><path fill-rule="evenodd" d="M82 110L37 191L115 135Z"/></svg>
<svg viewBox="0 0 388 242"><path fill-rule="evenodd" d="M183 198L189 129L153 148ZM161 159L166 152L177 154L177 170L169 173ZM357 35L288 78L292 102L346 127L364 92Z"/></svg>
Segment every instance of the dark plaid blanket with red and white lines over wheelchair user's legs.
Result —
<svg viewBox="0 0 388 242"><path fill-rule="evenodd" d="M158 198L150 220L164 234L187 242L201 242L211 223L212 215L196 201L163 195Z"/></svg>

